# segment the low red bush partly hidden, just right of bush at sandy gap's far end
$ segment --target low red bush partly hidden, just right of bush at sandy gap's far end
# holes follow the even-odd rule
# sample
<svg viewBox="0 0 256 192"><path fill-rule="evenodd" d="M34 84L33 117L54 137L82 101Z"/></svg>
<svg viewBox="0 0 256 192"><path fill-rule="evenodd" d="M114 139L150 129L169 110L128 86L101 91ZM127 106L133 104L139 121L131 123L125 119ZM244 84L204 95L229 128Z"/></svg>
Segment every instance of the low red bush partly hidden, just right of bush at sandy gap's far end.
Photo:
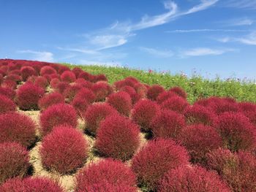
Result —
<svg viewBox="0 0 256 192"><path fill-rule="evenodd" d="M65 99L64 96L61 95L61 93L53 92L48 93L45 96L43 96L38 101L38 106L40 110L46 110L48 107L52 106L53 104L64 104Z"/></svg>

